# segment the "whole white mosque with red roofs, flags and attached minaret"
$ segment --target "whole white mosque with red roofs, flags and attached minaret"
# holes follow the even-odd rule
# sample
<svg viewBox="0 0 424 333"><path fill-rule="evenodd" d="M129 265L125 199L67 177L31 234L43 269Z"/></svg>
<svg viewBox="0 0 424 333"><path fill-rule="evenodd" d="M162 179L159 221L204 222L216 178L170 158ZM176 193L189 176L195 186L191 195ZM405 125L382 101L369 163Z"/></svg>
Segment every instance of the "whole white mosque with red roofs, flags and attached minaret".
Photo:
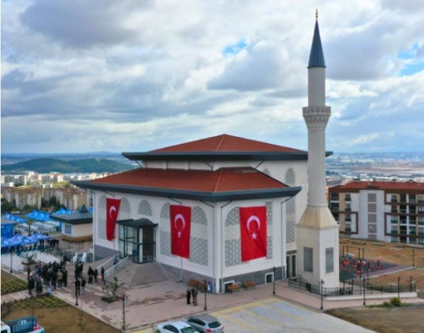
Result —
<svg viewBox="0 0 424 333"><path fill-rule="evenodd" d="M218 293L237 281L297 274L336 286L338 225L325 201L330 108L318 23L308 73L309 152L223 134L124 152L140 167L73 181L93 194L95 260L154 261L182 281L211 281Z"/></svg>

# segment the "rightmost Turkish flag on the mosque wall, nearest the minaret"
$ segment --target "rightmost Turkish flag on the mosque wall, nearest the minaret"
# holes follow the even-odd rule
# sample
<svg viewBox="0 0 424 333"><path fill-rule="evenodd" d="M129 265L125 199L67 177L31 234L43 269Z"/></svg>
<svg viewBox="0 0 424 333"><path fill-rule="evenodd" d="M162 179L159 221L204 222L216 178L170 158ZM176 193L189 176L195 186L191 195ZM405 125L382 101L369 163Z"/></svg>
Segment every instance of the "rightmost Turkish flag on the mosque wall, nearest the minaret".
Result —
<svg viewBox="0 0 424 333"><path fill-rule="evenodd" d="M266 207L240 207L242 261L266 257Z"/></svg>

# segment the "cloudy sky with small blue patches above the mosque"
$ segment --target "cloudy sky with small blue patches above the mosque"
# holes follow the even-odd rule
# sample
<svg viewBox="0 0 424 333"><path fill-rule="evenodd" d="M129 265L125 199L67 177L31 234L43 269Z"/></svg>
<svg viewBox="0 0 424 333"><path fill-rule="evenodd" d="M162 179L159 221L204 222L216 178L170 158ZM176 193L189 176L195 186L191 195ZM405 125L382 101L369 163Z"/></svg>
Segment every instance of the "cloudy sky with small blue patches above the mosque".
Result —
<svg viewBox="0 0 424 333"><path fill-rule="evenodd" d="M1 152L227 133L307 150L319 9L334 152L424 150L424 1L1 1Z"/></svg>

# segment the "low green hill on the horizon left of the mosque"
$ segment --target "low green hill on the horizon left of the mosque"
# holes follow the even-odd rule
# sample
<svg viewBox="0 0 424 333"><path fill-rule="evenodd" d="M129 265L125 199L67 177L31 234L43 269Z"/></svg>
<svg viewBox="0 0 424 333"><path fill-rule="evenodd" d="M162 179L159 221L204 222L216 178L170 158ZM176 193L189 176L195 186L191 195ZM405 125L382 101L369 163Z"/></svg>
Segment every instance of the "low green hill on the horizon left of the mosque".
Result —
<svg viewBox="0 0 424 333"><path fill-rule="evenodd" d="M61 174L76 174L88 172L121 172L134 169L130 164L123 164L112 161L111 159L78 159L74 161L64 161L53 158L30 159L25 162L2 165L3 173L18 174L23 171L36 171L39 174L47 174L52 171Z"/></svg>

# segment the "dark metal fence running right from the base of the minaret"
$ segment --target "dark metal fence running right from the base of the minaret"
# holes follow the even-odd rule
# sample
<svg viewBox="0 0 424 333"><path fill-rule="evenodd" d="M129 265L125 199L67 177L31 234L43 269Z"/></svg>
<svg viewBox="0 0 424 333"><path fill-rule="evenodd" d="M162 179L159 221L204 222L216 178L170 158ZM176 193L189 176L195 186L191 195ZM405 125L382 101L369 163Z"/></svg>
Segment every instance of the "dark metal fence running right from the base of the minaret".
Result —
<svg viewBox="0 0 424 333"><path fill-rule="evenodd" d="M383 293L410 293L416 291L416 284L410 282L409 284L387 284L387 285L375 285L370 284L369 281L350 280L343 281L343 286L338 288L327 288L324 286L310 284L302 277L295 277L288 280L288 286L292 289L298 289L299 291L308 291L324 297L334 296L351 296L351 295L363 295L365 294L383 294Z"/></svg>

